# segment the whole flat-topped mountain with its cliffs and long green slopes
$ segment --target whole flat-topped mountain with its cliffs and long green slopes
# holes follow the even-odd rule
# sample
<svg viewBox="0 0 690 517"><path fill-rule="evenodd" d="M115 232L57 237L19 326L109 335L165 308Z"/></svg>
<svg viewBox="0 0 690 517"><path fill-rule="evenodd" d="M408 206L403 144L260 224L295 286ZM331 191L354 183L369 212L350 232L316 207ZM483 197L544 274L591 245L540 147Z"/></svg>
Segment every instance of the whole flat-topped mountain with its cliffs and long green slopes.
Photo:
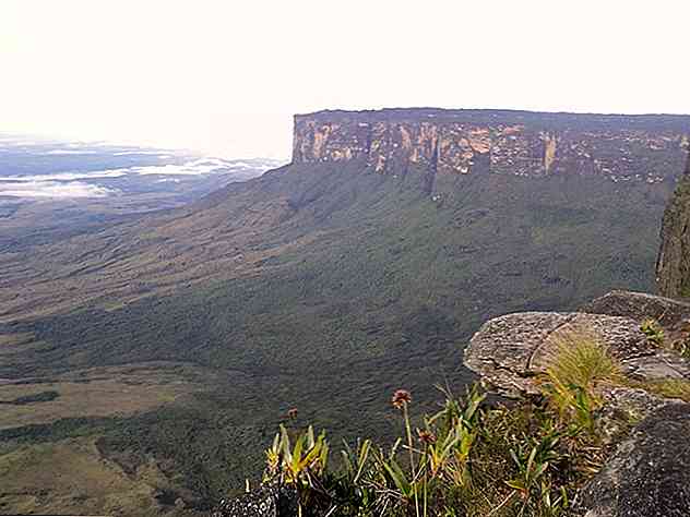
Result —
<svg viewBox="0 0 690 517"><path fill-rule="evenodd" d="M389 435L392 390L474 378L488 318L651 290L688 120L298 116L290 165L0 250L0 471L26 494L2 510L111 513L32 484L56 456L151 513L207 508L293 407L334 442Z"/></svg>

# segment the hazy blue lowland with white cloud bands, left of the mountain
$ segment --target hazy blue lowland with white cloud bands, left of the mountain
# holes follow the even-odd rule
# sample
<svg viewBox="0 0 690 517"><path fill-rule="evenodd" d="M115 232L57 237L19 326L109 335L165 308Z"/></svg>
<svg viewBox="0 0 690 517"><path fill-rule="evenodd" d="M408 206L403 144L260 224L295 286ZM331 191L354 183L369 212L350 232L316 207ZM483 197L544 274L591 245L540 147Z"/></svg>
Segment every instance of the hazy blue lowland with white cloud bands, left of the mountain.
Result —
<svg viewBox="0 0 690 517"><path fill-rule="evenodd" d="M0 197L118 196L193 183L245 181L282 163L274 159L199 157L169 149L61 143L0 135Z"/></svg>

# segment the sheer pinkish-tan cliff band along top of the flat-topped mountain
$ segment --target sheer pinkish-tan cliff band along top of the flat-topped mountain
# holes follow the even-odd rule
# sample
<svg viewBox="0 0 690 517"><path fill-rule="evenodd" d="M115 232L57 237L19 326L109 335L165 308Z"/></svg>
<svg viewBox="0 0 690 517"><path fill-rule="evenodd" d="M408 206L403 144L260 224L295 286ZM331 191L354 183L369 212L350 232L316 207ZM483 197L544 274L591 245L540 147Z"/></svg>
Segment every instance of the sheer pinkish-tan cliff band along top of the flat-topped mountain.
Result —
<svg viewBox="0 0 690 517"><path fill-rule="evenodd" d="M661 182L680 170L690 117L499 110L320 111L295 117L294 163L364 159L377 172L599 175Z"/></svg>

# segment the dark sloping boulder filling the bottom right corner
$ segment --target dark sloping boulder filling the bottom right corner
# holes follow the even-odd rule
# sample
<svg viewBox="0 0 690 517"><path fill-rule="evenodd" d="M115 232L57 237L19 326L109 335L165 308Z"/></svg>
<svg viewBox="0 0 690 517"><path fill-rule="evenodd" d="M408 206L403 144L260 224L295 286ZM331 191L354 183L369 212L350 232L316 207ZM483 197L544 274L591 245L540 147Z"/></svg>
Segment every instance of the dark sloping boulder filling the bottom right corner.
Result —
<svg viewBox="0 0 690 517"><path fill-rule="evenodd" d="M690 405L668 404L635 426L580 492L585 517L690 515Z"/></svg>

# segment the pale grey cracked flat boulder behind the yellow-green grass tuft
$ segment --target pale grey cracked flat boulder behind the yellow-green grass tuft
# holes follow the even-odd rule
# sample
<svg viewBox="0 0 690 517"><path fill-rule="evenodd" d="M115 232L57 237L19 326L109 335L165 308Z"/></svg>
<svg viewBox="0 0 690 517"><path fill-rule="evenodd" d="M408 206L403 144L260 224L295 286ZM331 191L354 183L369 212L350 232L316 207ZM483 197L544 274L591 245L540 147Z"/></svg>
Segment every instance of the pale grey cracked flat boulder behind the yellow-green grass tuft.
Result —
<svg viewBox="0 0 690 517"><path fill-rule="evenodd" d="M525 312L485 323L464 352L464 362L504 394L539 393L559 336L584 334L600 340L623 373L640 380L690 378L690 364L647 340L635 320L588 313Z"/></svg>

